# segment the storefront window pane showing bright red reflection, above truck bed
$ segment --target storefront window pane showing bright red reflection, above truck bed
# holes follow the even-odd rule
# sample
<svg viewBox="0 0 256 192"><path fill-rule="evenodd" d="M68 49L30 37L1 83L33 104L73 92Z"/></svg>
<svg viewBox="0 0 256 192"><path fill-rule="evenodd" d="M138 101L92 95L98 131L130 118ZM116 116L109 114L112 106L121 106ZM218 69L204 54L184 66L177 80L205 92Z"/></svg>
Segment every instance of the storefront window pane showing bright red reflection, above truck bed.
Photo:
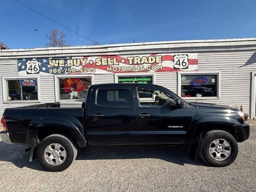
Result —
<svg viewBox="0 0 256 192"><path fill-rule="evenodd" d="M91 78L59 78L60 99L86 98Z"/></svg>

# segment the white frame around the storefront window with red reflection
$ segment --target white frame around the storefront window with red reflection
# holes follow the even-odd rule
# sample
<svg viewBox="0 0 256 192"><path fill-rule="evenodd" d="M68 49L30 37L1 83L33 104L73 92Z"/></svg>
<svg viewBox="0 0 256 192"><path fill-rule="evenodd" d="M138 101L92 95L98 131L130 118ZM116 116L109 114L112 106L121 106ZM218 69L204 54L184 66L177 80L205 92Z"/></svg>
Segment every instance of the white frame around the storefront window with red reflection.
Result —
<svg viewBox="0 0 256 192"><path fill-rule="evenodd" d="M94 84L94 75L93 74L54 75L55 102L63 102L63 101L68 102L68 101L80 100L80 99L60 99L60 83L59 83L60 78L91 78L91 85Z"/></svg>

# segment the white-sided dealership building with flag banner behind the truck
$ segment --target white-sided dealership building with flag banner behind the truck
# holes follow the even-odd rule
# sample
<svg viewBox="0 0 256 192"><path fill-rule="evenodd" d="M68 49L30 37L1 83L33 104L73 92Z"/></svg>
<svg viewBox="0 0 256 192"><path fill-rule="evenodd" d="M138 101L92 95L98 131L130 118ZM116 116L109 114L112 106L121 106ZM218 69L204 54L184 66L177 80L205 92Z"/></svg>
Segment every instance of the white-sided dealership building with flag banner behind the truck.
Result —
<svg viewBox="0 0 256 192"><path fill-rule="evenodd" d="M0 50L0 115L40 103L80 106L92 84L139 82L186 101L243 106L255 118L255 74L256 38Z"/></svg>

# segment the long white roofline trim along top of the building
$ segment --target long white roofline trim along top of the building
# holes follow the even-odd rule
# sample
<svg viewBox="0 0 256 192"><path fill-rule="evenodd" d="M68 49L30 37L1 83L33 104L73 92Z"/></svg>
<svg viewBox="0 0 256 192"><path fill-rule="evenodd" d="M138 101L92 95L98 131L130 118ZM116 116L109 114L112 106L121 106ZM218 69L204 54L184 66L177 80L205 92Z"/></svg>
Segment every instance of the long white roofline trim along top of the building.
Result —
<svg viewBox="0 0 256 192"><path fill-rule="evenodd" d="M102 56L149 53L184 53L256 50L256 38L180 40L95 46L68 46L0 50L0 60L64 56Z"/></svg>

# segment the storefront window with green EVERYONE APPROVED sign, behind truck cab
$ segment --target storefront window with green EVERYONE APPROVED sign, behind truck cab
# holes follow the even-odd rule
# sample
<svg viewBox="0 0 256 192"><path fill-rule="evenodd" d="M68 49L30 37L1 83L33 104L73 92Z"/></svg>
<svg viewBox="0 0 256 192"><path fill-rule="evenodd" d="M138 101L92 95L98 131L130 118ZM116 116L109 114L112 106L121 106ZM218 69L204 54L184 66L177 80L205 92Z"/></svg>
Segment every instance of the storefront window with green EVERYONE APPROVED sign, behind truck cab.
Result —
<svg viewBox="0 0 256 192"><path fill-rule="evenodd" d="M118 83L153 83L153 76L120 76L118 77ZM142 91L138 91L140 98L152 98L153 95L150 93L145 93Z"/></svg>

